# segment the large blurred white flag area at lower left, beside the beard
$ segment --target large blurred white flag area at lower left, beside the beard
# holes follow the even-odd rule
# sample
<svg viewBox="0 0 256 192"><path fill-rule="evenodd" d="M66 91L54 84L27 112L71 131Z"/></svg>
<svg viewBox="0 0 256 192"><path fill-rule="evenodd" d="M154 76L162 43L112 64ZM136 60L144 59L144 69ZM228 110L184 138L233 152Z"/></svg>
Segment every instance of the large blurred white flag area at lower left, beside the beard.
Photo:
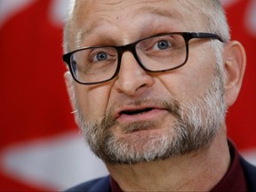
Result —
<svg viewBox="0 0 256 192"><path fill-rule="evenodd" d="M10 146L2 152L1 169L28 185L57 190L107 175L105 165L77 132Z"/></svg>

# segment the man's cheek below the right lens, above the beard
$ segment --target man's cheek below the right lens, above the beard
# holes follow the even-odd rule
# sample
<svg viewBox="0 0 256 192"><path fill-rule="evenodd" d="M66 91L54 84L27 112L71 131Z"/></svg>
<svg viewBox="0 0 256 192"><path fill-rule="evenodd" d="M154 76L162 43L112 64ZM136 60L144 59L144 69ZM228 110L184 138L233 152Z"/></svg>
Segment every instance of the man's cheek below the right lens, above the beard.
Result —
<svg viewBox="0 0 256 192"><path fill-rule="evenodd" d="M183 101L193 100L207 91L212 83L216 65L214 56L209 56L208 59L202 55L189 56L190 59L185 66L159 77L173 97Z"/></svg>

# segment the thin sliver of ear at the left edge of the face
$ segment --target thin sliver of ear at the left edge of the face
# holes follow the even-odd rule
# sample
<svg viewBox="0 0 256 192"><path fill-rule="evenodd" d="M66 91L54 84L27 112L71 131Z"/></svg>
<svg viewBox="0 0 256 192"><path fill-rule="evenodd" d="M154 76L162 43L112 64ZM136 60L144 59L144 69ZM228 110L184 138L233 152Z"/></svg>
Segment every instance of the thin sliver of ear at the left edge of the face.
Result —
<svg viewBox="0 0 256 192"><path fill-rule="evenodd" d="M76 108L76 94L74 89L74 81L69 71L66 71L64 74L66 88L68 91L68 96L70 100L71 107L73 108L73 112L75 114L76 124L78 123L77 108Z"/></svg>

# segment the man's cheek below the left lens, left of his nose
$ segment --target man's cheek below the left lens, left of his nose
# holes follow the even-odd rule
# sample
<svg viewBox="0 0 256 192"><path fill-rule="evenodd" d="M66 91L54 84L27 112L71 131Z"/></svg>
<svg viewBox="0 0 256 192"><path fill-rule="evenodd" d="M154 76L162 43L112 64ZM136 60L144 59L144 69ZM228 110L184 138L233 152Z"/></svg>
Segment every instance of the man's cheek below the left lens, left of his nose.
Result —
<svg viewBox="0 0 256 192"><path fill-rule="evenodd" d="M108 105L109 88L107 86L76 85L77 105L85 121L99 120L105 115Z"/></svg>

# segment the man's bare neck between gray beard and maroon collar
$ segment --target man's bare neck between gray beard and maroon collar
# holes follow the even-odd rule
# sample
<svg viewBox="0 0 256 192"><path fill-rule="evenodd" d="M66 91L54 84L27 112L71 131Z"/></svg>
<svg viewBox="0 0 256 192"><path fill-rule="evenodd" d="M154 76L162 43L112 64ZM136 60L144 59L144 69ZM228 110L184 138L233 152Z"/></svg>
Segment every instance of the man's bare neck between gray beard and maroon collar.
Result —
<svg viewBox="0 0 256 192"><path fill-rule="evenodd" d="M209 148L188 155L107 167L123 191L209 191L224 177L229 161L226 132L220 131Z"/></svg>

